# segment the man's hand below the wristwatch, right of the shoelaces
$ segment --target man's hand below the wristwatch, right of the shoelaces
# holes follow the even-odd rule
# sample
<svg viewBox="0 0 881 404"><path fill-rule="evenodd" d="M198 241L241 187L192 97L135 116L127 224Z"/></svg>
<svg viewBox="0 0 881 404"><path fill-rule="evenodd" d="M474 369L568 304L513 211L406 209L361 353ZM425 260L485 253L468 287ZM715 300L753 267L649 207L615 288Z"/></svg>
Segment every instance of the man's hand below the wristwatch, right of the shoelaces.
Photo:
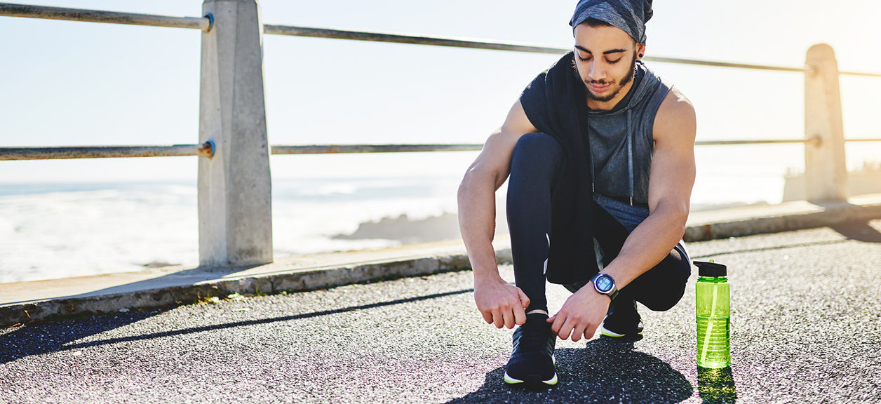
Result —
<svg viewBox="0 0 881 404"><path fill-rule="evenodd" d="M570 335L573 342L581 340L582 336L589 340L603 323L610 303L608 296L596 292L593 283L588 283L567 298L563 307L548 322L553 322L551 329L561 340L566 340Z"/></svg>

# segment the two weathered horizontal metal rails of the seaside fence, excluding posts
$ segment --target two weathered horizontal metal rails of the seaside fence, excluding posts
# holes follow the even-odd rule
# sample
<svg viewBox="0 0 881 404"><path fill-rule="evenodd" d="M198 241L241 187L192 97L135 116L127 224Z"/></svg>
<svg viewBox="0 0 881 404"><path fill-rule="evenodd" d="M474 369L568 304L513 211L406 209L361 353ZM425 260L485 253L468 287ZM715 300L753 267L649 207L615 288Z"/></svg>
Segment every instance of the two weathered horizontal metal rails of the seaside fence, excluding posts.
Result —
<svg viewBox="0 0 881 404"><path fill-rule="evenodd" d="M86 21L108 24L129 24L139 26L166 26L175 28L195 28L205 32L211 30L214 18L211 14L204 17L170 17L151 14L136 14L117 11L99 11L86 9L70 9L62 7L46 7L26 4L0 3L0 16L25 17L25 18L49 18L64 19L71 21ZM452 48L474 48L489 50L507 50L514 52L539 53L559 55L570 51L569 48L550 47L537 44L524 44L506 41L489 41L473 38L455 38L440 36L424 36L406 33L377 33L366 31L351 31L329 28L316 28L308 26L279 26L263 25L263 33L270 35L287 35L309 38L324 38L337 40L363 40L373 42L403 43L412 45L430 45ZM811 67L787 67L772 66L750 63L715 62L696 59L683 59L661 56L646 56L648 62L665 62L677 64L691 64L698 66L725 67L748 70L774 70L800 73L811 73ZM843 76L881 77L881 73L840 71ZM881 138L845 139L846 142L881 142ZM756 139L756 140L712 140L696 141L696 146L707 145L748 145L748 144L782 144L782 143L810 143L818 144L821 141L813 136L807 139ZM0 161L2 160L26 160L26 159L54 159L54 158L131 158L131 157L172 157L172 156L202 156L211 157L212 153L205 153L200 145L174 145L174 146L83 146L63 148L6 148L0 147ZM421 152L421 151L479 151L480 143L470 144L324 144L324 145L273 145L270 153L280 154L325 154L325 153L387 153L387 152ZM209 149L210 151L210 149Z"/></svg>

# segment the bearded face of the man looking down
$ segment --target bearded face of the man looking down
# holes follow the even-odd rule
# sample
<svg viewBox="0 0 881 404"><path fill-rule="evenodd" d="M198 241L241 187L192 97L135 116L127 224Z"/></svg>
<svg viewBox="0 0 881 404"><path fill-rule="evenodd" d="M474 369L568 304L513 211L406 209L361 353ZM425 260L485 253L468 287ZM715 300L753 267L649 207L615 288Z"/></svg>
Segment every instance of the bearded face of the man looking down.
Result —
<svg viewBox="0 0 881 404"><path fill-rule="evenodd" d="M611 109L633 86L637 54L645 46L614 26L575 27L575 66L588 89L588 105Z"/></svg>

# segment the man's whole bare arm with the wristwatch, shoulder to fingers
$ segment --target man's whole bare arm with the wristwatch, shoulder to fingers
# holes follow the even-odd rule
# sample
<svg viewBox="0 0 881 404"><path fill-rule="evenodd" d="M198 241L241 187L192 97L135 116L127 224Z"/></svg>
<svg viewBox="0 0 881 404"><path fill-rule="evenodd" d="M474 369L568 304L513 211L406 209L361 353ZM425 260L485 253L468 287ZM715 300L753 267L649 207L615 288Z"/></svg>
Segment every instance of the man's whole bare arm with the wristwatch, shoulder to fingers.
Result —
<svg viewBox="0 0 881 404"><path fill-rule="evenodd" d="M677 89L664 99L655 115L655 153L648 180L649 215L627 237L615 260L603 273L618 289L661 262L682 239L694 185L694 107ZM549 321L560 338L590 338L603 321L610 300L593 287L581 288Z"/></svg>

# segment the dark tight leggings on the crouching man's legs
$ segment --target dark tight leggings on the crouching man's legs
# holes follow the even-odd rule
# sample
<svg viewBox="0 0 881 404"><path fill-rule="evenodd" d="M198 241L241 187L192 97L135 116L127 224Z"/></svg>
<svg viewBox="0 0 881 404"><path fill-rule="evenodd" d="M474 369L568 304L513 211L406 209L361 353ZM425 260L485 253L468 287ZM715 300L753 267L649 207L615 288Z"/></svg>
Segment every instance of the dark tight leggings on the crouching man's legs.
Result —
<svg viewBox="0 0 881 404"><path fill-rule="evenodd" d="M515 282L530 300L527 311L547 311L544 271L552 237L551 195L556 187L562 153L553 137L528 133L517 142L512 155L507 185L507 224L511 232ZM593 212L594 237L603 248L603 265L608 265L618 256L630 233L596 203ZM594 263L587 270L592 276L599 268ZM685 282L691 272L685 247L679 243L663 261L621 289L616 301L635 300L651 310L669 310L685 293ZM585 284L564 286L574 292Z"/></svg>

